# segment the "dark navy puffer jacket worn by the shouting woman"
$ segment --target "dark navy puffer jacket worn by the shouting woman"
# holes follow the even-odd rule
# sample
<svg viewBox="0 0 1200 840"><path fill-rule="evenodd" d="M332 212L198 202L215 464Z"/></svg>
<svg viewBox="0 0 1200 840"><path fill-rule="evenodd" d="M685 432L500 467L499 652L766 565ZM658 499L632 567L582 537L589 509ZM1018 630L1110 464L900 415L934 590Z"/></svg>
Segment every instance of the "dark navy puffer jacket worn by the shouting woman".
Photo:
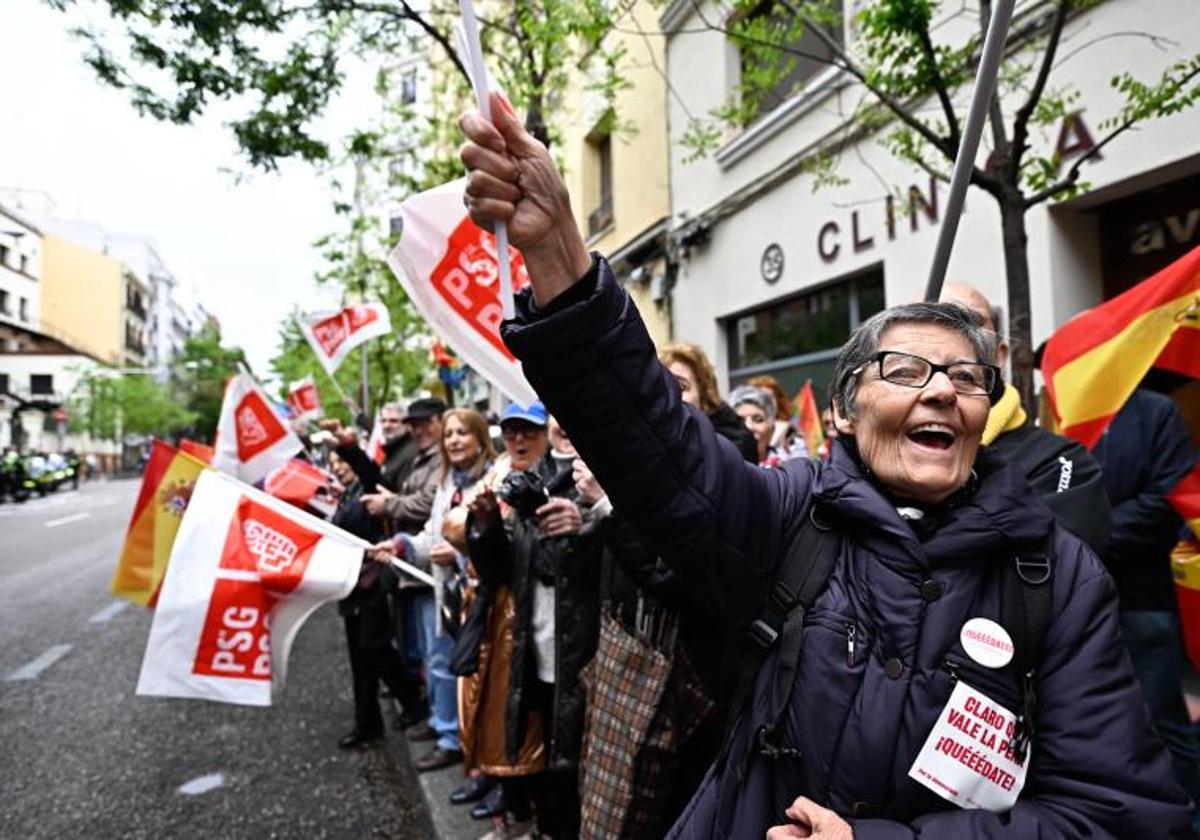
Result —
<svg viewBox="0 0 1200 840"><path fill-rule="evenodd" d="M1112 582L1078 539L1052 530L1049 511L1004 464L980 461L977 492L924 541L841 448L823 466L746 464L683 404L604 260L545 313L528 294L520 299L504 338L616 508L731 632L760 613L811 500L826 500L841 520L846 541L808 619L785 712L782 743L800 757L757 757L744 782L733 761L719 762L676 836L761 840L787 822L785 808L802 794L850 820L860 840L1187 835L1187 798L1151 734ZM958 809L908 769L949 698L952 671L1018 707L1015 684L972 666L959 631L973 617L1002 620L998 564L1051 533L1054 617L1025 790L1007 814ZM922 595L928 580L940 589L932 600ZM731 755L762 719L774 665L760 674Z"/></svg>

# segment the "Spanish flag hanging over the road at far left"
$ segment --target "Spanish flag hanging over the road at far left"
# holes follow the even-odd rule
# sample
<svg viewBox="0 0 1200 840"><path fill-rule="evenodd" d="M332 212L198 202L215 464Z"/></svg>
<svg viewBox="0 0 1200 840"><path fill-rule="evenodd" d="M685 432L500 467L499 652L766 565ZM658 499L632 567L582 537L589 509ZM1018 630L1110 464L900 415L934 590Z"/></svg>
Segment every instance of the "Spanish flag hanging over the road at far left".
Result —
<svg viewBox="0 0 1200 840"><path fill-rule="evenodd" d="M151 607L158 600L175 532L204 469L206 466L199 458L162 440L154 442L113 574L114 595Z"/></svg>

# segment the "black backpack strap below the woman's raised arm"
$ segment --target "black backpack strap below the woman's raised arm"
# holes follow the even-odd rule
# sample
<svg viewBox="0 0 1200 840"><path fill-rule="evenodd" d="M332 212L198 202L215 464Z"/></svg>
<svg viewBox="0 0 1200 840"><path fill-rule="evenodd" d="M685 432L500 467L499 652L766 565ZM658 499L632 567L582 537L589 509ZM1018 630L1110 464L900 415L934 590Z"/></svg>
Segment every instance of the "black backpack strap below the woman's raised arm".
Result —
<svg viewBox="0 0 1200 840"><path fill-rule="evenodd" d="M838 562L838 547L839 536L833 530L828 512L814 504L809 508L809 515L799 533L787 547L762 618L750 625L749 642L744 646L738 686L733 697L734 715L744 713L758 672L776 647L779 665L772 686L768 722L754 733L749 748L740 757L739 778L745 775L745 768L755 754L768 758L799 755L794 749L776 745L774 739L799 668L804 618L829 582ZM732 730L731 726L730 736Z"/></svg>

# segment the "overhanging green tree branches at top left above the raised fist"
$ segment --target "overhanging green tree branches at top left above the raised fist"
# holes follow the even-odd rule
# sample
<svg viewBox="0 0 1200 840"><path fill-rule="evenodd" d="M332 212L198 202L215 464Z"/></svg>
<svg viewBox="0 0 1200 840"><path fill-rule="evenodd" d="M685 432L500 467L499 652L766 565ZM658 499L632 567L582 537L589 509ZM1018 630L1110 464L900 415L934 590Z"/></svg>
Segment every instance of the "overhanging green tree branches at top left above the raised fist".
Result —
<svg viewBox="0 0 1200 840"><path fill-rule="evenodd" d="M46 0L71 13L77 0ZM467 80L455 23L458 4L432 0L98 0L112 20L73 30L100 80L160 120L188 124L214 103L250 163L325 162L337 138L320 120L355 59L386 66L422 49ZM630 0L481 0L484 49L527 124L550 138L547 109L570 68L602 50L604 35ZM446 146L449 151L457 143Z"/></svg>

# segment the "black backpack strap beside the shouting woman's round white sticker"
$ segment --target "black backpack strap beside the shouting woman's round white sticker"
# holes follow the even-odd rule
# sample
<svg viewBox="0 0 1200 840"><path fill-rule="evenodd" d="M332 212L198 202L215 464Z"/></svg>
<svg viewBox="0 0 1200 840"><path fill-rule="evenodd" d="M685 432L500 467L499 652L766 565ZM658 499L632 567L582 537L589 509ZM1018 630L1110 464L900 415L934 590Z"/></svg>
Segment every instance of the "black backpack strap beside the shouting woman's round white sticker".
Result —
<svg viewBox="0 0 1200 840"><path fill-rule="evenodd" d="M1002 610L1004 622L1013 632L1013 666L1021 691L1012 750L1016 760L1024 762L1034 736L1033 720L1038 706L1036 672L1042 664L1050 629L1054 535L1046 540L1042 553L1018 556L1003 569Z"/></svg>

